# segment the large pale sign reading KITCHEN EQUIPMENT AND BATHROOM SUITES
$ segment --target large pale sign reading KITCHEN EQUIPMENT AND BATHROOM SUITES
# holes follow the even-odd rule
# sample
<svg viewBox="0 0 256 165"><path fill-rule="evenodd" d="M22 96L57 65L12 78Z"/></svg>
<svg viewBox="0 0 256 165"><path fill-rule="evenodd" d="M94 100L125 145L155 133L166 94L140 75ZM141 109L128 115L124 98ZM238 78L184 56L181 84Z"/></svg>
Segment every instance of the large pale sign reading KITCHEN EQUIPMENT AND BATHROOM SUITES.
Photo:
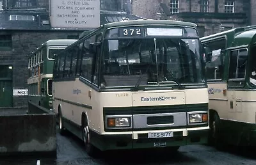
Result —
<svg viewBox="0 0 256 165"><path fill-rule="evenodd" d="M100 0L51 0L52 28L98 28Z"/></svg>

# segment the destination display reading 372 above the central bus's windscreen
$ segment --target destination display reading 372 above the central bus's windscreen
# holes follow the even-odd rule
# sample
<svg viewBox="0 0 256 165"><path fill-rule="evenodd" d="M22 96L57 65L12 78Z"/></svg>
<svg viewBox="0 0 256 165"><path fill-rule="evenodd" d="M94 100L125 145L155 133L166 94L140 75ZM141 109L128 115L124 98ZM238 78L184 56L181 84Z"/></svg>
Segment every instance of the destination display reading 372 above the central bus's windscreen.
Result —
<svg viewBox="0 0 256 165"><path fill-rule="evenodd" d="M109 29L105 38L136 38L143 36L198 36L193 28L125 27Z"/></svg>

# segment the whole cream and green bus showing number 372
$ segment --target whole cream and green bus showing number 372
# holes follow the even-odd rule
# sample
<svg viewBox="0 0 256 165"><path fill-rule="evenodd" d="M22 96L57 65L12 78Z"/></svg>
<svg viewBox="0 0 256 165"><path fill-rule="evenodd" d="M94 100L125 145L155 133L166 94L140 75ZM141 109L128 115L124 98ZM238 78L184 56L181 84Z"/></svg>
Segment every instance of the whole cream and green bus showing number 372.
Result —
<svg viewBox="0 0 256 165"><path fill-rule="evenodd" d="M104 24L56 55L60 131L101 151L207 143L209 99L196 25Z"/></svg>

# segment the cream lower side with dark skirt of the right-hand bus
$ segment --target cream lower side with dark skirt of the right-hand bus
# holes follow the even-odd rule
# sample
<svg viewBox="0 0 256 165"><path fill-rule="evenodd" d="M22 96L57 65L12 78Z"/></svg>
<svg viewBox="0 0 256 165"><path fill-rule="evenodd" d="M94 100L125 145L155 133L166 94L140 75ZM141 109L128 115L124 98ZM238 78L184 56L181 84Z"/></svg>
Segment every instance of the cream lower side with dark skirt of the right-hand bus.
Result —
<svg viewBox="0 0 256 165"><path fill-rule="evenodd" d="M254 91L225 91L226 83L208 84L210 109L221 120L221 139L234 145L256 145Z"/></svg>

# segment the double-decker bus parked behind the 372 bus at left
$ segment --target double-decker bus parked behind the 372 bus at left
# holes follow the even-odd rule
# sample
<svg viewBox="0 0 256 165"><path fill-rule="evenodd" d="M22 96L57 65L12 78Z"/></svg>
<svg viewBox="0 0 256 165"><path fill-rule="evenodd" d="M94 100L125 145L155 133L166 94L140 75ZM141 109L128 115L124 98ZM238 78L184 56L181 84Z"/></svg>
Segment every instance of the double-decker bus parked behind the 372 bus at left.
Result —
<svg viewBox="0 0 256 165"><path fill-rule="evenodd" d="M77 40L48 40L29 55L28 101L52 109L54 56Z"/></svg>

